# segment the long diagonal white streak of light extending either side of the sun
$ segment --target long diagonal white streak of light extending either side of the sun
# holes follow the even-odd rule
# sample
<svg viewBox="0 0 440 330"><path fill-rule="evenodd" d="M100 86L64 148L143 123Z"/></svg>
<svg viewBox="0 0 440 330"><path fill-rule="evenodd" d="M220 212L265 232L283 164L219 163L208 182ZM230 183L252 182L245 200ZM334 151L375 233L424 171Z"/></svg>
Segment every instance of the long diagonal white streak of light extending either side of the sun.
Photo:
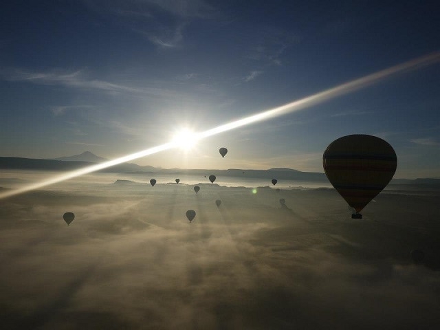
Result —
<svg viewBox="0 0 440 330"><path fill-rule="evenodd" d="M342 85L338 85L336 87L327 89L325 91L321 91L317 94L307 96L306 98L302 98L300 100L296 100L294 102L284 104L280 107L276 107L274 109L269 109L269 110L263 111L261 113L256 113L255 115L250 115L246 118L242 118L240 120L235 120L233 122L229 122L228 124L223 124L223 125L214 127L213 129L208 129L208 130L200 132L200 133L195 133L194 140L195 141L201 140L206 137L210 137L212 135L217 135L219 133L224 133L226 131L231 131L232 129L237 129L242 126L246 126L248 124L254 124L256 122L270 120L271 118L285 115L287 113L292 113L292 112L298 111L300 109L305 109L305 108L311 107L315 104L330 100L331 98L336 98L338 96L342 96L344 94L349 94L353 91L363 89L365 87L368 87L369 85L373 85L375 83L378 83L378 82L380 82L380 80L383 80L384 78L388 78L394 74L399 74L401 72L408 72L410 70L419 69L421 67L426 67L427 65L433 65L434 63L438 63L439 61L440 61L440 52L434 52L434 53L428 54L426 56L421 56L421 57L415 58L411 61L407 61L405 63L395 65L393 67L388 67L387 69L384 69L380 72L375 72L374 74L369 74L368 76L364 76L362 78L351 80L348 83L344 83ZM147 148L147 149L145 149L143 151L139 151L137 153L132 153L130 155L126 155L123 157L118 157L116 159L109 160L108 162L102 162L100 164L96 164L93 166L80 168L78 170L73 170L68 173L65 173L63 175L51 177L50 179L47 179L45 181L36 182L34 184L30 184L25 187L2 192L0 194L0 199L6 198L6 197L11 197L14 195L19 195L24 192L28 192L30 190L43 188L45 186L50 186L52 184L56 184L61 181L73 179L74 177L79 177L80 175L93 173L98 170L102 170L104 168L109 168L111 166L122 164L124 162L129 162L131 160L138 159L141 157L153 155L155 153L160 153L162 151L166 151L171 148L177 148L179 146L180 146L179 141L174 140L172 142L167 142L167 143L161 144L159 146Z"/></svg>

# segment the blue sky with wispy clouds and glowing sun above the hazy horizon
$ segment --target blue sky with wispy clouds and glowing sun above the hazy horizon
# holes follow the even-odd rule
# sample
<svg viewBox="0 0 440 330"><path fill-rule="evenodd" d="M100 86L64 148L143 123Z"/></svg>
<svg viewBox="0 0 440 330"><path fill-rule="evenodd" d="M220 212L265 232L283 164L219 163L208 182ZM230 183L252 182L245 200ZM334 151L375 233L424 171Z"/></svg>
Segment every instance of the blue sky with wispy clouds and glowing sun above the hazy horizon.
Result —
<svg viewBox="0 0 440 330"><path fill-rule="evenodd" d="M434 1L3 1L0 155L114 158L439 52ZM382 137L395 177L440 177L440 65L134 162L323 172ZM219 155L228 148L228 162Z"/></svg>

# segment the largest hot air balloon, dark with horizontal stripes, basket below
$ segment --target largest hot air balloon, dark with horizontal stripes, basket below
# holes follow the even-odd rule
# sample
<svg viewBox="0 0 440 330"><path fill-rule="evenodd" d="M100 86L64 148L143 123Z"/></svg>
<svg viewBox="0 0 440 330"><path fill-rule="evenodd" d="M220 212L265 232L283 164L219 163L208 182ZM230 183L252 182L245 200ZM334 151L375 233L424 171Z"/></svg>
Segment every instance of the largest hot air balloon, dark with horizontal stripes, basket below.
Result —
<svg viewBox="0 0 440 330"><path fill-rule="evenodd" d="M355 209L353 219L393 178L397 156L393 147L373 135L347 135L331 142L322 164L332 186Z"/></svg>

